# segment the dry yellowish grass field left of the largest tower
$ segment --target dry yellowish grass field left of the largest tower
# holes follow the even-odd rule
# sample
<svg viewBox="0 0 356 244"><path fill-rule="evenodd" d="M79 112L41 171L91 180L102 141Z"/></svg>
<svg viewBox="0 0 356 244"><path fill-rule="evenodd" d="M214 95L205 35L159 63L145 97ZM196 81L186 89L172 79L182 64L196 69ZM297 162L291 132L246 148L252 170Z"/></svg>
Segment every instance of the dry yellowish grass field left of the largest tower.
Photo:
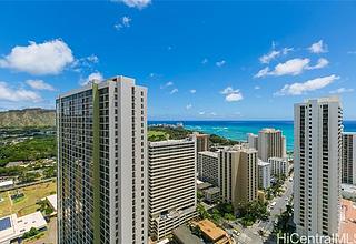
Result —
<svg viewBox="0 0 356 244"><path fill-rule="evenodd" d="M19 192L23 193L24 196L20 201L11 201L10 196L17 191L8 191L1 193L1 197L4 199L0 203L0 217L18 214L18 216L23 216L36 212L40 206L37 202L48 195L55 194L56 182L47 182L37 185L31 185L28 187L20 189Z"/></svg>

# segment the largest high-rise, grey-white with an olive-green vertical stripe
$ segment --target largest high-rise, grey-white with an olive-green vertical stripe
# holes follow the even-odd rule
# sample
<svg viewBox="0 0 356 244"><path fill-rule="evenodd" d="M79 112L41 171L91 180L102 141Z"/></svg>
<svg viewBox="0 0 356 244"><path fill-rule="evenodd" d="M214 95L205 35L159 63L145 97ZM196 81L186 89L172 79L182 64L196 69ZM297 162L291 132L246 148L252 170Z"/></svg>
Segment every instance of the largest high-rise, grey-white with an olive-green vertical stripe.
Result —
<svg viewBox="0 0 356 244"><path fill-rule="evenodd" d="M125 77L58 96L58 243L147 243L146 101Z"/></svg>

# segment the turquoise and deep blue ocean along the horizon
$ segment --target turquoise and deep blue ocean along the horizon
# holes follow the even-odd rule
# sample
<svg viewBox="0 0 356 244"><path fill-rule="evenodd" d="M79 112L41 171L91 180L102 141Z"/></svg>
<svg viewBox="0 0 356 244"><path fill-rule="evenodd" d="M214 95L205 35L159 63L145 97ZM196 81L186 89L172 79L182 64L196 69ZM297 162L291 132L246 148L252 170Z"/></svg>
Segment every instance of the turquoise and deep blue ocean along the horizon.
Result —
<svg viewBox="0 0 356 244"><path fill-rule="evenodd" d="M247 133L257 134L263 128L275 128L287 138L287 151L293 151L293 121L149 121L148 124L182 123L188 130L217 134L231 140L246 140ZM356 121L344 121L344 131L356 132Z"/></svg>

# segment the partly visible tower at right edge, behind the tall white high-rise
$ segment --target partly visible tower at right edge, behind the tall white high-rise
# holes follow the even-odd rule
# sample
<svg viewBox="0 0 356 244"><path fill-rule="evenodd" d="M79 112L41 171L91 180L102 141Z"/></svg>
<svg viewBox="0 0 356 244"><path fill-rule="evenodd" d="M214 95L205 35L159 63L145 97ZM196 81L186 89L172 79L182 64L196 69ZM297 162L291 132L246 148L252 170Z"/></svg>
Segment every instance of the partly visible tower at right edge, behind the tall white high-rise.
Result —
<svg viewBox="0 0 356 244"><path fill-rule="evenodd" d="M356 185L356 133L343 133L342 181Z"/></svg>

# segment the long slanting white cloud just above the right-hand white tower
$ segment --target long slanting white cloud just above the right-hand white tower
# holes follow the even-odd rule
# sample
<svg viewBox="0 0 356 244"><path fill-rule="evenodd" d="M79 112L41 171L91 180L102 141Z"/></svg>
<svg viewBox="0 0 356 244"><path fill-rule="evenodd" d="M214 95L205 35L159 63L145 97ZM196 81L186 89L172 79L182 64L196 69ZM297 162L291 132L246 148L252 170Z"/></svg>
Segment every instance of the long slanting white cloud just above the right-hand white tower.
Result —
<svg viewBox="0 0 356 244"><path fill-rule="evenodd" d="M315 91L325 88L338 79L339 77L332 74L324 78L308 80L303 83L296 82L293 84L286 84L280 91L276 92L275 95L301 95L308 91Z"/></svg>

